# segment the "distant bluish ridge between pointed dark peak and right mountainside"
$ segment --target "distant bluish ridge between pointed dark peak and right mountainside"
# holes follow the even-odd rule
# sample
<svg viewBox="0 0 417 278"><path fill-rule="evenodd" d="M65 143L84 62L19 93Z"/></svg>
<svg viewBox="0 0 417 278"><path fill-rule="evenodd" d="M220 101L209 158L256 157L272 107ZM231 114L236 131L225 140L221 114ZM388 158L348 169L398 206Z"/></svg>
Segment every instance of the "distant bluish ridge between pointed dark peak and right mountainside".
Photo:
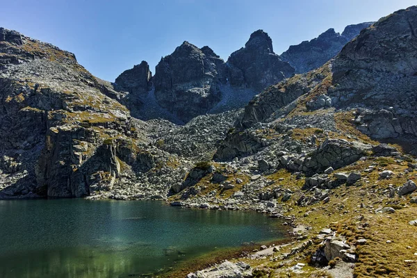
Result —
<svg viewBox="0 0 417 278"><path fill-rule="evenodd" d="M341 34L330 28L318 38L291 45L281 54L281 59L290 63L297 74L309 72L327 63L341 51L347 42L359 35L363 28L368 28L373 23L364 22L346 26Z"/></svg>

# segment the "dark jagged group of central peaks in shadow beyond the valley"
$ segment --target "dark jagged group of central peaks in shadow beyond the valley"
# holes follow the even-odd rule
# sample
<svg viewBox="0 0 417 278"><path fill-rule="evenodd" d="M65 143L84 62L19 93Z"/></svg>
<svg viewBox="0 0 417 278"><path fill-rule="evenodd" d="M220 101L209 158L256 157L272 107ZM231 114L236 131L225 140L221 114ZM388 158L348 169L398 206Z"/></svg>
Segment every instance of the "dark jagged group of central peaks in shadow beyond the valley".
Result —
<svg viewBox="0 0 417 278"><path fill-rule="evenodd" d="M293 72L274 53L268 34L259 30L227 63L210 47L199 49L183 42L161 59L153 78L149 79L147 63L142 62L120 74L115 87L129 92L121 102L135 117L183 123L205 113L241 108L263 88Z"/></svg>

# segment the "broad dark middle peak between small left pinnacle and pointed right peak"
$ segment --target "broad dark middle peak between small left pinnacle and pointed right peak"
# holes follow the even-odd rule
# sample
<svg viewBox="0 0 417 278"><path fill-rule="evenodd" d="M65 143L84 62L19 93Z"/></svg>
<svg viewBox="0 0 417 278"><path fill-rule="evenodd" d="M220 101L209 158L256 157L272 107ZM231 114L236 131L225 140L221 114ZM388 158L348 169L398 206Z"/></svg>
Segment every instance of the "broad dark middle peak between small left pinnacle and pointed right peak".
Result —
<svg viewBox="0 0 417 278"><path fill-rule="evenodd" d="M156 101L184 122L206 113L220 101L217 63L217 56L183 42L156 66Z"/></svg>

